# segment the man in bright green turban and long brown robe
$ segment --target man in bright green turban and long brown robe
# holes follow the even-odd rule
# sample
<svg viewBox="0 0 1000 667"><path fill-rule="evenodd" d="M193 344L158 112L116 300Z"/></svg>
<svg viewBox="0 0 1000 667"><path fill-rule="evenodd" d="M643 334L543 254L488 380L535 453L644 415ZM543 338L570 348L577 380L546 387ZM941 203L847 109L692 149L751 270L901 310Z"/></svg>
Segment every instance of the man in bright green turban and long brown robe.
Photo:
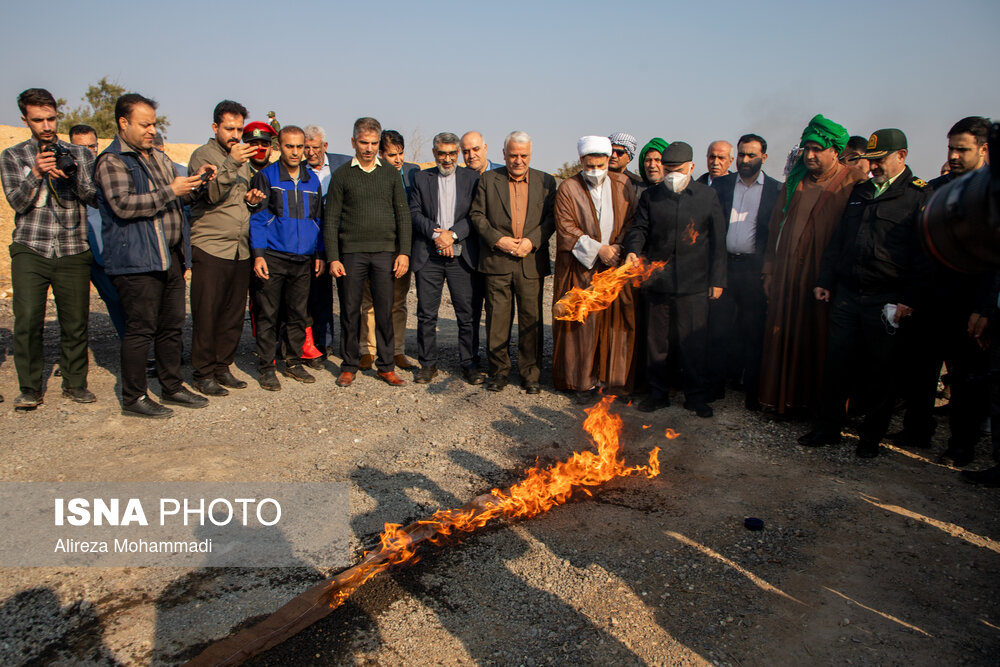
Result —
<svg viewBox="0 0 1000 667"><path fill-rule="evenodd" d="M778 414L819 408L829 304L817 301L813 288L851 190L868 178L837 160L848 138L841 125L815 116L802 133L802 153L771 215L760 402Z"/></svg>

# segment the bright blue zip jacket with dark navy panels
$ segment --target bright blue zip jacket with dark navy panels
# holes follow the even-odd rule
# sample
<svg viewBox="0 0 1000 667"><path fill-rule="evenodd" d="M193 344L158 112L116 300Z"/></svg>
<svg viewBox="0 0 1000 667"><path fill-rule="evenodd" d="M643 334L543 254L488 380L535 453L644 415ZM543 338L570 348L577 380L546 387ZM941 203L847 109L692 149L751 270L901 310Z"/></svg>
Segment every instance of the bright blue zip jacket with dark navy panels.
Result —
<svg viewBox="0 0 1000 667"><path fill-rule="evenodd" d="M303 162L294 181L281 160L257 172L252 188L264 193L267 207L250 216L250 250L254 257L280 253L305 261L323 256L323 188Z"/></svg>

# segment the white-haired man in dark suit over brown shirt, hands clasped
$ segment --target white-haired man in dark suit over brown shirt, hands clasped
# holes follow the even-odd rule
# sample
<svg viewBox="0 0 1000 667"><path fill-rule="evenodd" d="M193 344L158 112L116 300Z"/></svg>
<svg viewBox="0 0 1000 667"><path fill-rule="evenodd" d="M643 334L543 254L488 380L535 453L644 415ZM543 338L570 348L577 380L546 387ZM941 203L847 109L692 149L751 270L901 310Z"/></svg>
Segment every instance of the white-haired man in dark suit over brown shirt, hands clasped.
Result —
<svg viewBox="0 0 1000 667"><path fill-rule="evenodd" d="M511 311L517 301L518 371L528 394L538 385L542 356L542 282L551 273L549 237L556 180L529 168L531 137L511 132L505 166L479 178L469 218L479 232L479 271L486 275L486 389L501 391L510 373Z"/></svg>

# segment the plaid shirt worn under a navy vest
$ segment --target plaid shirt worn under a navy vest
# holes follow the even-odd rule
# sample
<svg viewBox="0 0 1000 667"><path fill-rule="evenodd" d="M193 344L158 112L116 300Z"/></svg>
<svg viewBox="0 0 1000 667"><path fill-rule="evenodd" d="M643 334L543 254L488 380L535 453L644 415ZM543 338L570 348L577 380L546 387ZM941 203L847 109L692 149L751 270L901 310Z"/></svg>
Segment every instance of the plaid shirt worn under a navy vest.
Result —
<svg viewBox="0 0 1000 667"><path fill-rule="evenodd" d="M132 175L117 155L101 153L94 172L94 179L104 192L108 206L123 220L133 218L153 218L163 225L163 235L167 245L173 248L181 242L184 229L184 210L181 200L170 189L174 180L174 163L167 154L155 148L150 149L149 159L118 137L123 153L132 153L149 170L149 192L137 194L132 184ZM188 197L193 199L193 197Z"/></svg>

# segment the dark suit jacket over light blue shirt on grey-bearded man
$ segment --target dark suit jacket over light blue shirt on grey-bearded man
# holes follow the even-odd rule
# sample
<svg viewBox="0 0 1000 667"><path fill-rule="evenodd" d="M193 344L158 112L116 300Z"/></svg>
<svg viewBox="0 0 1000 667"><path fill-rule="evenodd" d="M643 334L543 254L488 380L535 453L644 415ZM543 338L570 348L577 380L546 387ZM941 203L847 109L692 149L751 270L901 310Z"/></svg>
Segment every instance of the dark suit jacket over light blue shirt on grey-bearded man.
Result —
<svg viewBox="0 0 1000 667"><path fill-rule="evenodd" d="M434 167L413 174L410 188L410 219L413 220L413 249L410 253L410 270L419 271L427 258L437 252L434 230L438 213L438 178L441 171ZM455 170L455 223L451 230L458 235L455 245L462 248L460 262L476 270L479 265L479 234L469 221L469 209L476 195L479 174L472 169Z"/></svg>

